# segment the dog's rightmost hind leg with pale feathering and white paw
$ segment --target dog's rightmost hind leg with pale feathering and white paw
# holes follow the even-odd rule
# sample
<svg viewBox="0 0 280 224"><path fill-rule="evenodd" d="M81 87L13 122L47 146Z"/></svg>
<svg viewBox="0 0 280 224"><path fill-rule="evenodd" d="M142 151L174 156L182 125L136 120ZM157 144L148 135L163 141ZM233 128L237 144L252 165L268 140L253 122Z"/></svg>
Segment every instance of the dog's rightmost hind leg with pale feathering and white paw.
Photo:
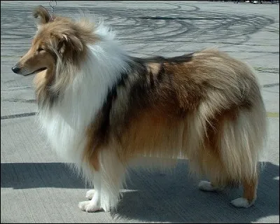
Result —
<svg viewBox="0 0 280 224"><path fill-rule="evenodd" d="M223 162L229 177L244 188L243 197L231 202L235 207L248 208L257 198L258 161L265 137L265 119L265 110L259 106L251 112L240 112L232 125L224 123Z"/></svg>

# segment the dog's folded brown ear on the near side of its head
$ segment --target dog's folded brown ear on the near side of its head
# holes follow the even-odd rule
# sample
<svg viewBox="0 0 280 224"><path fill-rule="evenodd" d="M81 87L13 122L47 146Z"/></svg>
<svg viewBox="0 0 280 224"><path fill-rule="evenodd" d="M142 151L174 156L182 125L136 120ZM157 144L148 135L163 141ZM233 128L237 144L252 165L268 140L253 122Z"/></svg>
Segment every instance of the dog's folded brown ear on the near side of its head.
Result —
<svg viewBox="0 0 280 224"><path fill-rule="evenodd" d="M59 53L63 54L66 47L69 46L72 50L80 52L83 50L83 43L80 39L73 35L62 34L59 36L59 42L57 44L57 50Z"/></svg>

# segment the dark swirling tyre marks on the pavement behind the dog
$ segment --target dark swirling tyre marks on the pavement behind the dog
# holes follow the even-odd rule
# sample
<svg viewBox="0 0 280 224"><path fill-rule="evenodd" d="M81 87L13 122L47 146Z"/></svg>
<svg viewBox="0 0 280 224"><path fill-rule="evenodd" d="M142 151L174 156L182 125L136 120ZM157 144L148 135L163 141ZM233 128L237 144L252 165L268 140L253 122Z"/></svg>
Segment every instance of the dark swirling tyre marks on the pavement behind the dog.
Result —
<svg viewBox="0 0 280 224"><path fill-rule="evenodd" d="M141 1L137 4L141 4ZM274 20L269 16L237 14L221 10L200 10L196 6L185 3L165 3L165 8L130 8L102 7L98 3L82 3L79 10L88 10L90 14L104 18L118 33L118 38L125 43L146 43L147 41L188 42L188 41L225 41L235 38L236 43L243 43L262 27ZM156 3L155 3L156 4ZM151 3L149 4L151 5ZM90 6L90 8L87 8ZM78 15L78 9L73 7L55 8L55 13L66 16ZM2 10L2 8L1 8ZM8 8L3 8L8 10ZM12 8L10 14L1 15L1 41L26 41L30 39L36 26L31 12L22 8ZM2 13L1 13L2 14ZM16 21L15 21L16 20ZM16 24L17 26L13 26ZM203 26L202 26L203 25ZM207 29L205 29L207 27ZM2 35L3 34L3 35ZM10 46L9 46L10 47Z"/></svg>

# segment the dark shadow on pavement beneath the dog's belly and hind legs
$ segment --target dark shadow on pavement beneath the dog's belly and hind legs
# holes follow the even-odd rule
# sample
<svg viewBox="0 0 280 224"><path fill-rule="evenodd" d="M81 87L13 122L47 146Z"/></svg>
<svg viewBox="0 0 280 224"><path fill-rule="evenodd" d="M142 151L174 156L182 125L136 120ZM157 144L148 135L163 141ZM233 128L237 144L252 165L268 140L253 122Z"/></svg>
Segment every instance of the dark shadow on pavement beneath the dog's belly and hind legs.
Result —
<svg viewBox="0 0 280 224"><path fill-rule="evenodd" d="M115 218L168 223L251 223L267 216L279 216L279 166L270 162L260 174L258 199L248 209L237 209L231 200L241 197L242 189L220 193L198 190L188 176L186 163L174 172L131 171L127 191L118 204ZM140 177L140 178L139 178Z"/></svg>

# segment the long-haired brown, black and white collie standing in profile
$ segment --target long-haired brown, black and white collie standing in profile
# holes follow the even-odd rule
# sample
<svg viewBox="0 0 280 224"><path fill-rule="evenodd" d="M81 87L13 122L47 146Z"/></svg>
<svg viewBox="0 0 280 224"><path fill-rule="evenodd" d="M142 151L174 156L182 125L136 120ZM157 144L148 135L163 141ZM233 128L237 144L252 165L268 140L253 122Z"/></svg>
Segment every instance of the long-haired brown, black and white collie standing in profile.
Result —
<svg viewBox="0 0 280 224"><path fill-rule="evenodd" d="M38 118L50 144L94 190L84 211L116 208L130 163L188 159L202 190L241 184L256 198L266 112L253 70L218 50L179 57L128 55L102 23L34 11L38 31L13 66L36 73Z"/></svg>

